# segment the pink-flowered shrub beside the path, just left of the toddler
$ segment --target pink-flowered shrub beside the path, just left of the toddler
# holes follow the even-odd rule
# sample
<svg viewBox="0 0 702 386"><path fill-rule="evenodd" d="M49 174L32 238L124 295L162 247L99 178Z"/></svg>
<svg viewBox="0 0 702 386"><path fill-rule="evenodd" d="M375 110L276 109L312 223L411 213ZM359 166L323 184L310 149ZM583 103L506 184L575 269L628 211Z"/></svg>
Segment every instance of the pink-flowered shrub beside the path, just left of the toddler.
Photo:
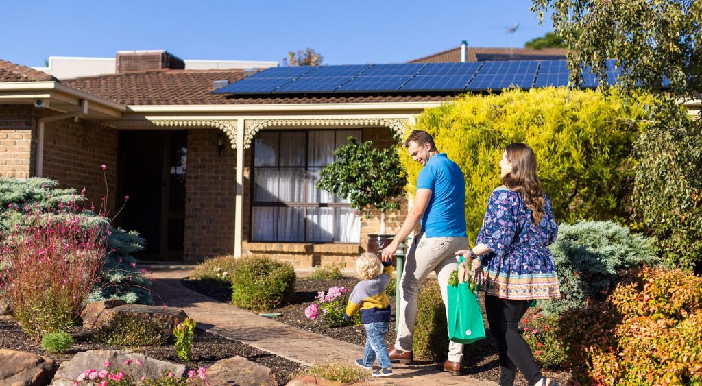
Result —
<svg viewBox="0 0 702 386"><path fill-rule="evenodd" d="M349 290L346 287L333 286L329 291L319 291L317 301L310 303L305 309L305 317L310 320L322 319L329 327L361 324L360 314L350 320L344 317L349 300Z"/></svg>

